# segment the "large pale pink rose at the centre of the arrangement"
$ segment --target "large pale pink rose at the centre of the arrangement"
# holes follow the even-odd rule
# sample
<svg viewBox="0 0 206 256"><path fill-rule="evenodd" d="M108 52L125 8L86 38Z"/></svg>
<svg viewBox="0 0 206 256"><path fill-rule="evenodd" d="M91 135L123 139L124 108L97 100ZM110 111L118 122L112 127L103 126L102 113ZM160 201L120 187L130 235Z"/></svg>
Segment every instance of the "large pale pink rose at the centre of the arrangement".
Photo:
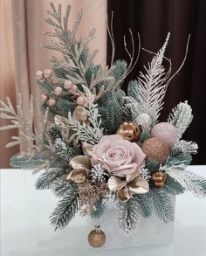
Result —
<svg viewBox="0 0 206 256"><path fill-rule="evenodd" d="M146 155L134 142L120 135L106 135L93 147L91 162L102 164L114 176L127 176L144 163Z"/></svg>

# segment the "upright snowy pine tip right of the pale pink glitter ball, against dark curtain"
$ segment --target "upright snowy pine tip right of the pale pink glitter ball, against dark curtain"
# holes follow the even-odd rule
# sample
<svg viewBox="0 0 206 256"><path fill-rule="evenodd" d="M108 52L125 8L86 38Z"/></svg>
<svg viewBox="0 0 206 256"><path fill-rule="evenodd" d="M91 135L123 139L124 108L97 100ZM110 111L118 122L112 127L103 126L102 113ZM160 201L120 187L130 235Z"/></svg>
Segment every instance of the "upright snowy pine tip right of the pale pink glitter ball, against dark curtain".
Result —
<svg viewBox="0 0 206 256"><path fill-rule="evenodd" d="M173 108L172 113L168 116L168 122L175 126L180 138L189 127L192 119L192 108L189 106L187 100L185 102L180 102L175 108Z"/></svg>

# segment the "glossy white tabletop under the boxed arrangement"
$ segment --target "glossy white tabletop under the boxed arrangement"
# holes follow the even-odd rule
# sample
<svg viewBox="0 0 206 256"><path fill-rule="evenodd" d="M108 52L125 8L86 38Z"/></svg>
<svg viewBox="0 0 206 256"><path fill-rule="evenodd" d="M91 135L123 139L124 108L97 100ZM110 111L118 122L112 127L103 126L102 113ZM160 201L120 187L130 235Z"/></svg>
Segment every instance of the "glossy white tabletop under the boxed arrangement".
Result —
<svg viewBox="0 0 206 256"><path fill-rule="evenodd" d="M206 176L206 166L189 166ZM23 170L1 170L1 256L206 256L206 198L186 192L176 197L173 243L111 251L86 244L85 218L74 218L65 230L53 231L49 215L57 203L50 190L37 191L37 176Z"/></svg>

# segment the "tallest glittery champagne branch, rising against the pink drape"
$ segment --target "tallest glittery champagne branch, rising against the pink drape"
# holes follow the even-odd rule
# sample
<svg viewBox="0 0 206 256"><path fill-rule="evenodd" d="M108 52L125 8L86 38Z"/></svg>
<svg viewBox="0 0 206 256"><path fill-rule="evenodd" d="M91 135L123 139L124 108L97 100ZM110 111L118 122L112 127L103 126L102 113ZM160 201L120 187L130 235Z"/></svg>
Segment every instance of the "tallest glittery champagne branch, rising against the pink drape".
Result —
<svg viewBox="0 0 206 256"><path fill-rule="evenodd" d="M61 59L58 61L58 59L52 57L51 61L55 64L55 68L65 70L65 78L67 80L71 80L76 85L83 84L90 88L93 94L96 94L95 101L99 100L103 95L111 91L113 87L118 86L125 78L125 75L122 75L120 80L115 81L113 77L113 70L116 68L115 64L110 68L107 66L95 66L93 64L93 59L98 51L91 52L88 44L95 37L95 29L90 31L87 36L82 36L79 40L76 39L76 33L81 22L82 10L79 11L76 21L72 25L72 30L68 30L68 18L71 6L67 6L64 17L60 4L58 5L58 10L55 9L53 3L51 3L51 7L52 10L49 10L47 13L52 18L45 17L45 21L52 25L55 32L45 32L45 35L57 37L58 42L52 42L43 46L47 49L63 53L64 60ZM88 77L90 69L93 69L93 72L91 73L91 79L87 80L86 77ZM98 86L100 86L99 84L101 82L105 85L101 86L99 90Z"/></svg>

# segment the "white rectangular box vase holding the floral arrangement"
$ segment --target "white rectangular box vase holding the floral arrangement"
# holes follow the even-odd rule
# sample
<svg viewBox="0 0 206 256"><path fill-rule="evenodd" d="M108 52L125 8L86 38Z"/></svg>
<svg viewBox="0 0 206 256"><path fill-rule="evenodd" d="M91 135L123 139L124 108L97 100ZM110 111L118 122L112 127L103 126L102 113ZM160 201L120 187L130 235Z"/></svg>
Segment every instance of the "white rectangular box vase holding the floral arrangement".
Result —
<svg viewBox="0 0 206 256"><path fill-rule="evenodd" d="M171 199L175 209L175 197ZM93 230L97 224L106 234L106 243L99 250L169 244L173 239L174 223L166 224L154 216L141 217L137 230L130 235L119 230L115 209L106 209L98 220L88 219L88 230Z"/></svg>

